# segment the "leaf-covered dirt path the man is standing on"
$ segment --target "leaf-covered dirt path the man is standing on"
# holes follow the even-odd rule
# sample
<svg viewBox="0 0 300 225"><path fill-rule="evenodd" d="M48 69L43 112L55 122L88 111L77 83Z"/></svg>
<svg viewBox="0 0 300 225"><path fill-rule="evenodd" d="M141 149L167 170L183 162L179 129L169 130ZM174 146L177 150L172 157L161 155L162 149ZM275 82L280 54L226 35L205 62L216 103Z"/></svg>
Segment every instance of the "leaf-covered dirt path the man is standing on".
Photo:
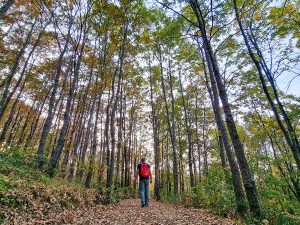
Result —
<svg viewBox="0 0 300 225"><path fill-rule="evenodd" d="M117 205L97 205L88 210L70 210L59 217L61 220L57 222L66 224L235 224L233 221L213 215L208 210L185 208L155 200L151 201L148 208L142 208L139 199L126 199Z"/></svg>

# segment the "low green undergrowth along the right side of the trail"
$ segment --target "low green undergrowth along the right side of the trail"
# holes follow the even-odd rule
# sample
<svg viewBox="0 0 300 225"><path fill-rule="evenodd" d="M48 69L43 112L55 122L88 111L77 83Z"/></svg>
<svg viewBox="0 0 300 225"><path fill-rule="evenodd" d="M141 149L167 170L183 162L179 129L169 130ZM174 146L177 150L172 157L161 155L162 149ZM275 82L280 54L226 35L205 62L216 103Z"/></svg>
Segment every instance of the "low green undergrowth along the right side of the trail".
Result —
<svg viewBox="0 0 300 225"><path fill-rule="evenodd" d="M217 180L217 178L216 178ZM173 204L182 204L186 207L206 208L213 213L225 218L237 221L241 225L299 225L300 204L291 201L278 192L271 194L270 190L261 188L261 206L264 216L260 220L251 216L250 212L245 215L238 215L235 207L235 198L231 186L224 183L202 182L192 191L185 191L179 195L166 193L161 190L162 201ZM272 198L270 197L272 195ZM281 202L279 204L279 202ZM284 204L284 205L283 205ZM285 207L285 210L284 210Z"/></svg>

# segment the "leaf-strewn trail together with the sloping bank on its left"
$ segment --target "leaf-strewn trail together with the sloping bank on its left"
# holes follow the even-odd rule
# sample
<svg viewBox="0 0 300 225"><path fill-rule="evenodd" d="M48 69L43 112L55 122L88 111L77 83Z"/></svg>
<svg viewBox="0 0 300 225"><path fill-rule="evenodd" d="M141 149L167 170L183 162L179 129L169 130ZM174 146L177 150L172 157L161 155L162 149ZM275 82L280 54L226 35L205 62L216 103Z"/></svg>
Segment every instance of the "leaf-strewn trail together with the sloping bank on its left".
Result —
<svg viewBox="0 0 300 225"><path fill-rule="evenodd" d="M142 208L130 193L108 200L95 189L49 179L28 157L0 152L0 224L235 224L208 210L154 199Z"/></svg>

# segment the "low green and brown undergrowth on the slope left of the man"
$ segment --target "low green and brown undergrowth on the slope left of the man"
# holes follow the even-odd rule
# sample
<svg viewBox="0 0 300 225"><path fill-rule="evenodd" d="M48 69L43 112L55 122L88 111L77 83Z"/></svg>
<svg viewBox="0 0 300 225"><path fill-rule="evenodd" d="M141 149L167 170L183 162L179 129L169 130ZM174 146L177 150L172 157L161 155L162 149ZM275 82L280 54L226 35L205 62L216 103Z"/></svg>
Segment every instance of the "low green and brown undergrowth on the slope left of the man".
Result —
<svg viewBox="0 0 300 225"><path fill-rule="evenodd" d="M115 188L100 194L96 178L90 189L84 188L76 179L68 182L59 173L50 178L36 168L35 155L33 149L17 146L0 150L0 207L6 207L6 210L20 208L35 199L41 203L57 203L59 207L92 206L115 204L120 199L136 196L131 188ZM0 222L3 216L0 212Z"/></svg>

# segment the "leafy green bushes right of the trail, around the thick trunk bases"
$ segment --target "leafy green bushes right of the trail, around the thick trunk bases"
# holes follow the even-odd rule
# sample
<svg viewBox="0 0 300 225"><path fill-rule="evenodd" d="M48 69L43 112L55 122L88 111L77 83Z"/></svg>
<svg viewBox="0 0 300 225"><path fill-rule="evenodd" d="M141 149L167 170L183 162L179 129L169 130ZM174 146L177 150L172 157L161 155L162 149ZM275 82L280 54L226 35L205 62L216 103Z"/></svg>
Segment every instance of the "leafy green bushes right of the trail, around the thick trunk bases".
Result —
<svg viewBox="0 0 300 225"><path fill-rule="evenodd" d="M253 156L252 156L253 157ZM261 161L262 159L255 159ZM296 225L300 222L300 204L288 195L286 181L261 169L253 168L256 173L264 174L263 183L259 183L259 195L263 208L262 221L250 214L239 218L236 214L236 203L230 179L226 178L219 164L210 167L207 177L202 177L192 191L185 191L180 196L161 190L162 200L167 203L183 204L186 207L208 208L214 213L241 220L242 224ZM226 182L226 179L228 181Z"/></svg>

